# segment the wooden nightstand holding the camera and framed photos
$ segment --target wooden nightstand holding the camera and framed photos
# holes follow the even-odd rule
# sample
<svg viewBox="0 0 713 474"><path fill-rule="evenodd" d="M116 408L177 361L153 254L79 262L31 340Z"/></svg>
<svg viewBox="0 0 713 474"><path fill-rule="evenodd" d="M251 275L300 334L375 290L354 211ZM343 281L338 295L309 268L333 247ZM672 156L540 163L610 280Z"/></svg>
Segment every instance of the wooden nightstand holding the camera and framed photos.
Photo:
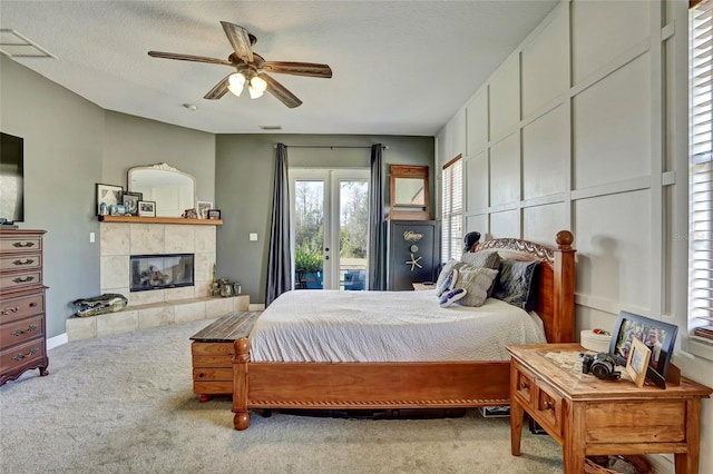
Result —
<svg viewBox="0 0 713 474"><path fill-rule="evenodd" d="M510 446L520 455L526 411L563 446L565 474L584 472L585 456L675 453L677 474L697 474L701 399L713 389L681 377L666 388L637 388L582 374L578 344L508 346ZM622 367L619 367L622 368Z"/></svg>

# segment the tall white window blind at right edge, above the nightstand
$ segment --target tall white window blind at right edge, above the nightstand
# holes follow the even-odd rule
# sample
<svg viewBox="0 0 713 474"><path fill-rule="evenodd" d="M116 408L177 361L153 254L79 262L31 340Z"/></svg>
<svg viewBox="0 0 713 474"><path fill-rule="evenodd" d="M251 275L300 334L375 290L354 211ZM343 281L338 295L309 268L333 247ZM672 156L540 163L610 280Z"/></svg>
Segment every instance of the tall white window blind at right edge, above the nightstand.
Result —
<svg viewBox="0 0 713 474"><path fill-rule="evenodd" d="M713 1L688 19L688 329L713 344Z"/></svg>

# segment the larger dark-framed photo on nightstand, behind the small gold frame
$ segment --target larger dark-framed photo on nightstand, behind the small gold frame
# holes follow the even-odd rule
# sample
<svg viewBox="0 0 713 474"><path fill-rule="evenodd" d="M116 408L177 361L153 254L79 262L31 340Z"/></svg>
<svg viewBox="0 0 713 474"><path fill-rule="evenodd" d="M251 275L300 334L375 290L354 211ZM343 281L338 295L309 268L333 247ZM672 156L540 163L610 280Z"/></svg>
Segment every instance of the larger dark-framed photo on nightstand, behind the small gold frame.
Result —
<svg viewBox="0 0 713 474"><path fill-rule="evenodd" d="M663 384L668 373L678 326L629 312L619 312L614 325L609 354L616 364L626 366L634 339L641 340L651 350L648 372L657 385ZM653 374L652 374L653 373Z"/></svg>

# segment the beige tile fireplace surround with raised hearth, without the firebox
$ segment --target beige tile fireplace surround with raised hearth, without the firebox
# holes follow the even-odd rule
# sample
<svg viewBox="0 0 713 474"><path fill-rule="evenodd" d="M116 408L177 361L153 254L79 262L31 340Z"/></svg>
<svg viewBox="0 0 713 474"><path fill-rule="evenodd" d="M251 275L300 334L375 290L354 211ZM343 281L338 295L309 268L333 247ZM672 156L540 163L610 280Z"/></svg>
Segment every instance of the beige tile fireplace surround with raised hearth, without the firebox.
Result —
<svg viewBox="0 0 713 474"><path fill-rule="evenodd" d="M100 227L101 294L121 294L129 304L117 313L70 317L66 324L69 340L248 310L247 295L232 298L208 296L215 263L215 226L101 223ZM194 286L129 292L129 256L159 254L194 254Z"/></svg>

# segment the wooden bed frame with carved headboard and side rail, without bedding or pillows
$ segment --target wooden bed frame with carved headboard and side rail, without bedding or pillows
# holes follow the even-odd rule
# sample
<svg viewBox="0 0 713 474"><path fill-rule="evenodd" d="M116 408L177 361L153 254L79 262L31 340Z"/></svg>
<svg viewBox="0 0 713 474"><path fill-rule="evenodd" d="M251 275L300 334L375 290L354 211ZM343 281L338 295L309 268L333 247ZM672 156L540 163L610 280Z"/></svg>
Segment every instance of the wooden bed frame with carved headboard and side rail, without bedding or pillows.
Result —
<svg viewBox="0 0 713 474"><path fill-rule="evenodd" d="M539 259L537 314L549 343L574 340L575 249L563 230L557 248L520 239L484 241L520 260ZM250 426L250 409L459 408L509 404L509 361L404 363L251 362L250 340L235 342L233 424ZM482 383L486 381L486 383Z"/></svg>

